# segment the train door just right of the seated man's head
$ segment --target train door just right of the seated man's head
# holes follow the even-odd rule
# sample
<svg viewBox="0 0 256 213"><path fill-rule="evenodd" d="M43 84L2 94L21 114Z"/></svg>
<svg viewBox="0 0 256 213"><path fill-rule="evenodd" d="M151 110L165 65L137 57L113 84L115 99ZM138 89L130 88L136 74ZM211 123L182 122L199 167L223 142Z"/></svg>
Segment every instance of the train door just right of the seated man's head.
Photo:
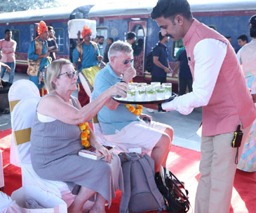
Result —
<svg viewBox="0 0 256 213"><path fill-rule="evenodd" d="M147 35L147 21L131 21L128 25L128 31L136 34L136 41L133 43L133 66L137 71L137 76L144 74L144 53L145 39Z"/></svg>

